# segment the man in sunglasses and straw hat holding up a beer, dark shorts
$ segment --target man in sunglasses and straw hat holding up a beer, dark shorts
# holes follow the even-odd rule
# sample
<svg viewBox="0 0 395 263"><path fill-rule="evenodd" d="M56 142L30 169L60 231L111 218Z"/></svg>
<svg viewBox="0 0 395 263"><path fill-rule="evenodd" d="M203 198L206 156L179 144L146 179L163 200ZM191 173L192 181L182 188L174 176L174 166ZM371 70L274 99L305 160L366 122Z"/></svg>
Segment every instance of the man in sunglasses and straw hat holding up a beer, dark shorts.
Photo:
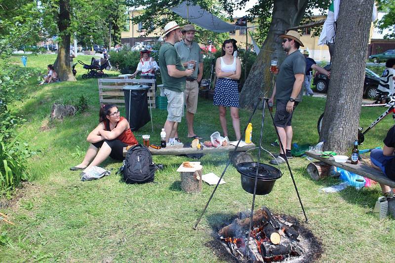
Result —
<svg viewBox="0 0 395 263"><path fill-rule="evenodd" d="M283 163L286 158L292 158L292 113L302 100L302 84L306 70L305 57L298 50L300 46L304 46L302 41L300 41L300 34L290 30L279 38L282 39L282 48L287 53L287 56L279 70L277 69L273 72L274 74L278 74L278 76L273 88L272 97L269 99L269 104L273 104L276 98L274 122L285 152L282 151L280 146L280 154L270 161L272 164L277 164L277 162Z"/></svg>

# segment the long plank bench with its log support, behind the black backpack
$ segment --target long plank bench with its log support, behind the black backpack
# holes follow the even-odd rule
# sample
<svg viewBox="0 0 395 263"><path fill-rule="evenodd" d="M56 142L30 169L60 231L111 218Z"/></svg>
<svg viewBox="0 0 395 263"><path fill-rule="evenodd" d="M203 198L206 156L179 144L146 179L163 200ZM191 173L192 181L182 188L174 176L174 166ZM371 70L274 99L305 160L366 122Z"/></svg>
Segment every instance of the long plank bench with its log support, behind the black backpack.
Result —
<svg viewBox="0 0 395 263"><path fill-rule="evenodd" d="M152 155L181 155L181 154L196 154L196 153L219 153L219 152L229 152L229 157L231 157L231 154L233 150L235 150L235 146L233 145L227 145L227 146L221 146L219 148L214 148L214 147L203 147L203 150L197 150L195 148L182 148L182 147L166 147L166 148L161 148L159 150L154 149L154 148L149 148L151 151ZM237 147L237 152L235 156L232 159L232 163L236 166L240 162L252 162L253 159L251 155L246 152L247 150L251 150L256 148L255 144L250 143L247 144L243 147ZM126 148L123 148L123 157L126 156Z"/></svg>

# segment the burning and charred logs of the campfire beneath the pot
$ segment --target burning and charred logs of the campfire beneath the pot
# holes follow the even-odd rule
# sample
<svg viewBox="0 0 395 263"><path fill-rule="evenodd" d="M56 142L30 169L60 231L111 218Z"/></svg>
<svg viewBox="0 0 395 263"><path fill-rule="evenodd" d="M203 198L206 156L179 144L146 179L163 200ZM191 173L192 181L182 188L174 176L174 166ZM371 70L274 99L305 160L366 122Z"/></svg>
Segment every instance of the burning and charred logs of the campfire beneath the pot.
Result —
<svg viewBox="0 0 395 263"><path fill-rule="evenodd" d="M221 243L237 260L247 255L249 217L236 219L231 225L219 230ZM252 230L248 240L249 262L298 262L302 261L309 242L296 230L296 225L285 217L274 216L267 207L258 209L253 216Z"/></svg>

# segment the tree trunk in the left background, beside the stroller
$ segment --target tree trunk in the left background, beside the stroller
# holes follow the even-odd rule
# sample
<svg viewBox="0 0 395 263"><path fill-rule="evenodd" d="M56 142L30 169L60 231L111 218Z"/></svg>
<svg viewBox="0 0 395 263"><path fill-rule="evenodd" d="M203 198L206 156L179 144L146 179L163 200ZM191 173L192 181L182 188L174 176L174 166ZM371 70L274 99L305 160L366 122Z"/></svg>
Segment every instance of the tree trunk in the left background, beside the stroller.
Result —
<svg viewBox="0 0 395 263"><path fill-rule="evenodd" d="M62 81L76 81L70 67L70 0L59 0L58 14L59 42L58 56L54 62L55 71Z"/></svg>

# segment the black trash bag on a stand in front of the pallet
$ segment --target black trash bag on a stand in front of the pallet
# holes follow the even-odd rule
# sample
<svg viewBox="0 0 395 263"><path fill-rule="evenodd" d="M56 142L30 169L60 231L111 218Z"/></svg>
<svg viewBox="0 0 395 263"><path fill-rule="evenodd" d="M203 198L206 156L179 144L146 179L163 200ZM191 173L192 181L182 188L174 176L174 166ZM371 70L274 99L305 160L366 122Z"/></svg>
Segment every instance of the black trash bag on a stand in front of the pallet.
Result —
<svg viewBox="0 0 395 263"><path fill-rule="evenodd" d="M136 131L151 120L148 112L147 85L130 85L123 87L125 96L126 118L130 129Z"/></svg>

